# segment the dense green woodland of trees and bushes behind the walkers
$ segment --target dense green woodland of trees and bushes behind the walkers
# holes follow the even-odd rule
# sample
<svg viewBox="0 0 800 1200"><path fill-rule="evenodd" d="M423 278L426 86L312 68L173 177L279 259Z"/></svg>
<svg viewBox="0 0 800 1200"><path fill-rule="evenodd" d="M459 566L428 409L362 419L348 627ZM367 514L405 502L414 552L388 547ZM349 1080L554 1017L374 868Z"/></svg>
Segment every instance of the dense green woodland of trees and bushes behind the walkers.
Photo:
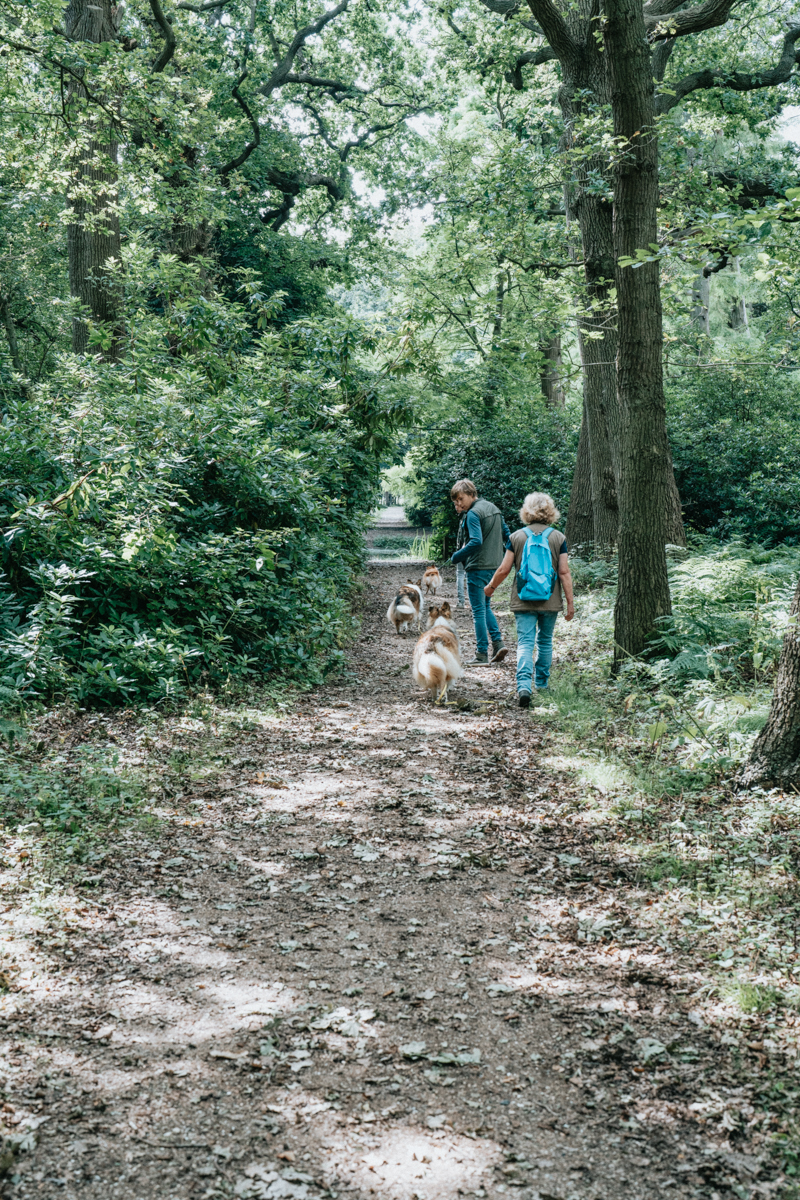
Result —
<svg viewBox="0 0 800 1200"><path fill-rule="evenodd" d="M610 92L537 6L4 5L12 728L321 679L381 472L437 552L452 479L510 522L551 491L584 586L613 589L590 382L610 404L615 278L654 264L686 547L642 670L754 688L763 724L800 541L800 26L758 0L645 6L657 241L596 268ZM603 66L604 18L576 14Z"/></svg>

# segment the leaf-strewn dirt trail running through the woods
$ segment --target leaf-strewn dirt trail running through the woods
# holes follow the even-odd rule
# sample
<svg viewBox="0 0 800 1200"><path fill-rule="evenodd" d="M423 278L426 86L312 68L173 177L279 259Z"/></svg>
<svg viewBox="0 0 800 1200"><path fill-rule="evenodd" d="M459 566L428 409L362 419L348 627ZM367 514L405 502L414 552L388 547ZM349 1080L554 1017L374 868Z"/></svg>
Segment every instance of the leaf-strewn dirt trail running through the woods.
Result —
<svg viewBox="0 0 800 1200"><path fill-rule="evenodd" d="M625 865L553 816L554 734L506 703L511 664L470 672L464 707L416 694L385 620L407 574L371 569L344 682L221 745L68 941L32 919L4 1028L38 1145L10 1195L751 1195L758 1164L688 1120L691 1063L663 1073L691 1014L614 924Z"/></svg>

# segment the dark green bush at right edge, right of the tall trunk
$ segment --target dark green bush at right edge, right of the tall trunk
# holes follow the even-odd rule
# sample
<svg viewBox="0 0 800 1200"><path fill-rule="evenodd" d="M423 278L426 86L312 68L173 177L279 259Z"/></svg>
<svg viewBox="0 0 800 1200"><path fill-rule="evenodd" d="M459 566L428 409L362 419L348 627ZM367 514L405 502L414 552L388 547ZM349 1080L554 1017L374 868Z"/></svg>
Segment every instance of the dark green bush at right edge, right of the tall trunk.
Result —
<svg viewBox="0 0 800 1200"><path fill-rule="evenodd" d="M668 395L687 524L715 538L800 544L800 403L775 371L686 372Z"/></svg>

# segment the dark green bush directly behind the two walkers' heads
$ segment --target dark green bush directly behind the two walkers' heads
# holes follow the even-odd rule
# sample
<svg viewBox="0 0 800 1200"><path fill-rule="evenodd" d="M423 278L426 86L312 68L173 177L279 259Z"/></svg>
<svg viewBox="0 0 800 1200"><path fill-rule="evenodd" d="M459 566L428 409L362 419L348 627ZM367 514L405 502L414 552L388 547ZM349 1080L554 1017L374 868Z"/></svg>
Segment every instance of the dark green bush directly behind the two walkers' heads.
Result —
<svg viewBox="0 0 800 1200"><path fill-rule="evenodd" d="M471 479L480 494L501 510L511 529L528 492L549 492L566 515L575 468L577 431L541 404L530 416L497 418L471 426L453 418L426 434L411 451L419 503L407 509L415 524L432 524L452 547L458 517L450 500L457 479Z"/></svg>

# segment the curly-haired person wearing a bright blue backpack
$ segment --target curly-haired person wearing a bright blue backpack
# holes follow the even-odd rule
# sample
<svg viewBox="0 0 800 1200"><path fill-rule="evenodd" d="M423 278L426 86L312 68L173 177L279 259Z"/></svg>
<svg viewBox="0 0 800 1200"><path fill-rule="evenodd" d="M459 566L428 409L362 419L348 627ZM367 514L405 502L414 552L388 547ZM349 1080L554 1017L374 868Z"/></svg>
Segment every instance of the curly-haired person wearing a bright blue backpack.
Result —
<svg viewBox="0 0 800 1200"><path fill-rule="evenodd" d="M511 534L503 562L485 588L487 598L491 599L511 572L511 568L516 568L511 611L517 622L517 703L521 708L529 707L534 682L537 691L547 690L553 662L553 631L565 598L565 620L572 620L575 617L566 538L552 528L559 516L552 496L546 492L530 492L519 509L523 528ZM551 594L545 600L522 600L519 592L524 592L525 587L519 583L519 568L525 544L531 535L545 533L551 551L552 576L547 577L548 583L552 578Z"/></svg>

